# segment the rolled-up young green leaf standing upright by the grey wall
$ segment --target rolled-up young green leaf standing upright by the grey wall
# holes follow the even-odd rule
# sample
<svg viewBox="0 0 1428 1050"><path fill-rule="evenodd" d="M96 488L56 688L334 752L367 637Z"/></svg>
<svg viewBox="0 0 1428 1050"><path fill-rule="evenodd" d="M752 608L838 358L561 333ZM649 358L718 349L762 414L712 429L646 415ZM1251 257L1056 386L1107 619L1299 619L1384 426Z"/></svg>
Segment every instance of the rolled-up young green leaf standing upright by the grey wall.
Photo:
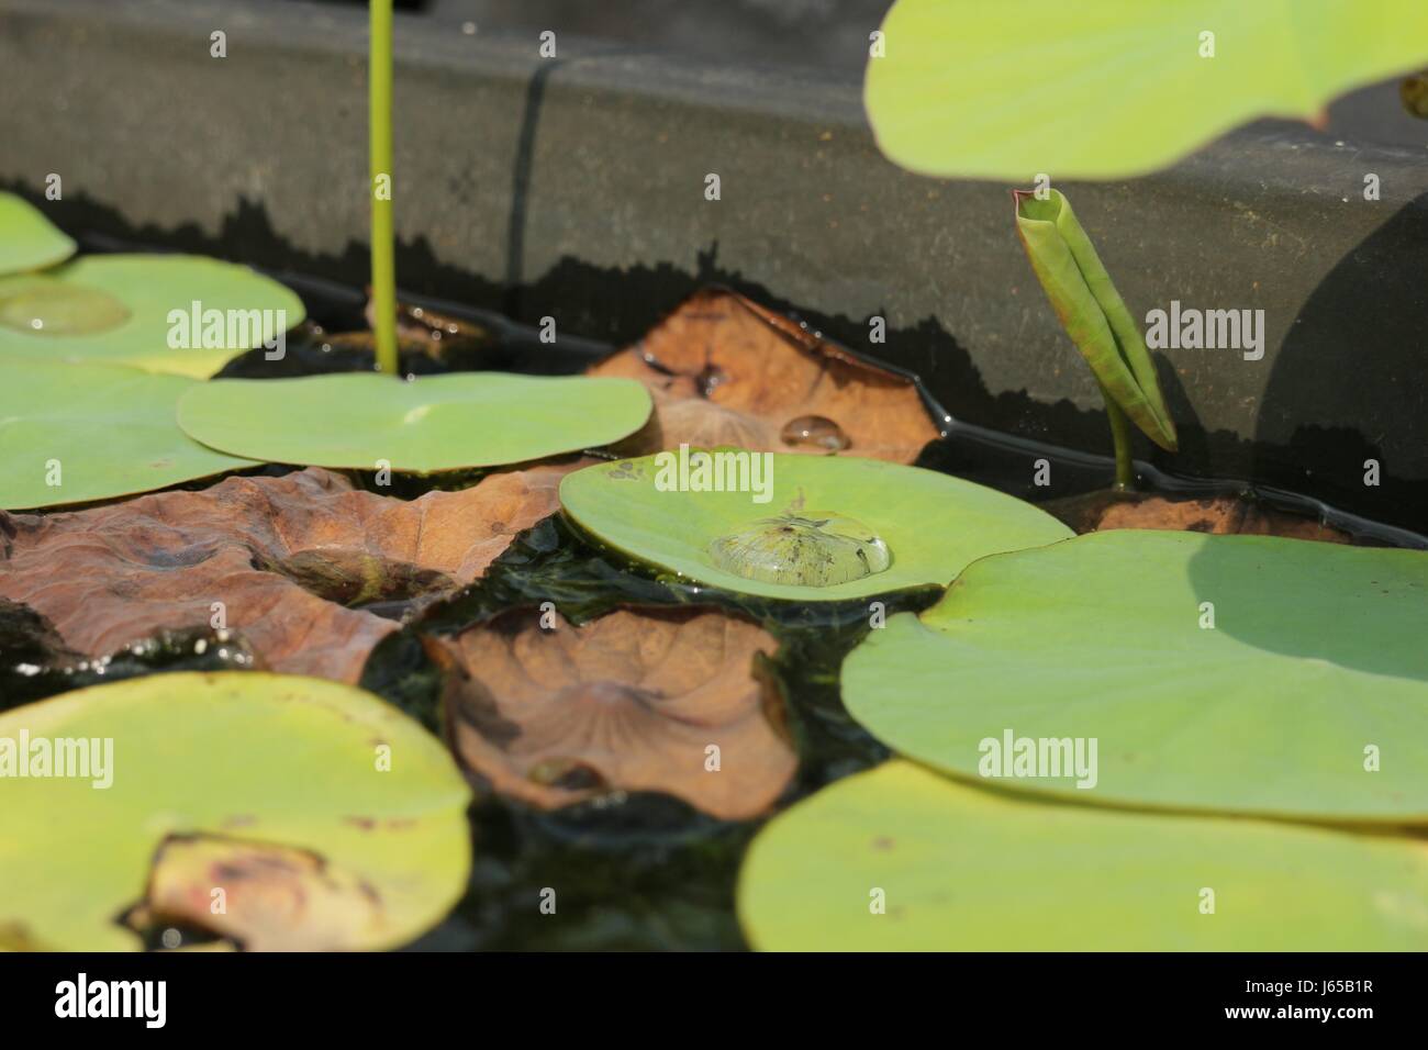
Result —
<svg viewBox="0 0 1428 1050"><path fill-rule="evenodd" d="M1047 200L1021 191L1015 197L1017 233L1031 269L1107 400L1155 444L1175 451L1175 424L1145 339L1071 211L1071 201L1060 190L1051 190Z"/></svg>

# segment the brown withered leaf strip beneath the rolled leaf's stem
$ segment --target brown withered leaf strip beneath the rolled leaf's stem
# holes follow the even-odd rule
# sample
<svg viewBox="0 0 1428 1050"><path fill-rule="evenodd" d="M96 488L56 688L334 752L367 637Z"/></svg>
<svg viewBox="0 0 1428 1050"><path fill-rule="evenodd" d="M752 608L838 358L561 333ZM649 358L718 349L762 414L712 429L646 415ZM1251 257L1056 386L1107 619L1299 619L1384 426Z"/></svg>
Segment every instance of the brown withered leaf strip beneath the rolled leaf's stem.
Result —
<svg viewBox="0 0 1428 1050"><path fill-rule="evenodd" d="M1172 499L1150 493L1101 490L1048 500L1041 509L1077 533L1107 529L1172 529L1215 536L1281 536L1291 540L1352 543L1334 526L1267 507L1241 496Z"/></svg>

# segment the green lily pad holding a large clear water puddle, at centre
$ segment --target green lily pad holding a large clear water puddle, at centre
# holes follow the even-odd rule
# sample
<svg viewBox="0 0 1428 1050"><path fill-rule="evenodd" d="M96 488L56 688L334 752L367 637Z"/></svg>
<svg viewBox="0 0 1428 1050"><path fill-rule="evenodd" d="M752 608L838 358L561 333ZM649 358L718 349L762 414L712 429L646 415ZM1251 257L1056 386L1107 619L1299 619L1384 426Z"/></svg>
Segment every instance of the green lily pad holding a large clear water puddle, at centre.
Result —
<svg viewBox="0 0 1428 1050"><path fill-rule="evenodd" d="M560 483L561 506L633 559L790 601L942 587L974 559L1071 536L1030 503L932 470L735 449L683 456L577 470ZM701 473L728 490L694 490Z"/></svg>

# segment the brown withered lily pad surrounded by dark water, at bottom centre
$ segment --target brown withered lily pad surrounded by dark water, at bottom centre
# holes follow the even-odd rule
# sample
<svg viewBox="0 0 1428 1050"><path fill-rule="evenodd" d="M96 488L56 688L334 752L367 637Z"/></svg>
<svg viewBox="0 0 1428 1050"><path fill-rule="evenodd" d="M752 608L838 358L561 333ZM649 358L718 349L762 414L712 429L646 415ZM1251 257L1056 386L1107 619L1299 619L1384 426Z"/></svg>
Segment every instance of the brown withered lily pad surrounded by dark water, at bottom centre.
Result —
<svg viewBox="0 0 1428 1050"><path fill-rule="evenodd" d="M797 759L758 663L763 629L697 607L618 610L573 627L514 610L448 643L447 729L467 766L543 809L665 791L725 820L767 810Z"/></svg>

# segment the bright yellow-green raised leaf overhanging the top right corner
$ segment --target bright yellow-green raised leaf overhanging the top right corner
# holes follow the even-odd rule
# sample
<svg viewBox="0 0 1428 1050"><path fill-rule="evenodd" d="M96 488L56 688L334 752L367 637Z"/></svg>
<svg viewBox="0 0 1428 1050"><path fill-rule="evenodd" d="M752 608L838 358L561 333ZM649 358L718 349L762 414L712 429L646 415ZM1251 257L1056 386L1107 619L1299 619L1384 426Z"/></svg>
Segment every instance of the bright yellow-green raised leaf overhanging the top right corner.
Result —
<svg viewBox="0 0 1428 1050"><path fill-rule="evenodd" d="M864 86L883 151L1005 181L1145 174L1428 60L1421 0L898 0L883 33Z"/></svg>

